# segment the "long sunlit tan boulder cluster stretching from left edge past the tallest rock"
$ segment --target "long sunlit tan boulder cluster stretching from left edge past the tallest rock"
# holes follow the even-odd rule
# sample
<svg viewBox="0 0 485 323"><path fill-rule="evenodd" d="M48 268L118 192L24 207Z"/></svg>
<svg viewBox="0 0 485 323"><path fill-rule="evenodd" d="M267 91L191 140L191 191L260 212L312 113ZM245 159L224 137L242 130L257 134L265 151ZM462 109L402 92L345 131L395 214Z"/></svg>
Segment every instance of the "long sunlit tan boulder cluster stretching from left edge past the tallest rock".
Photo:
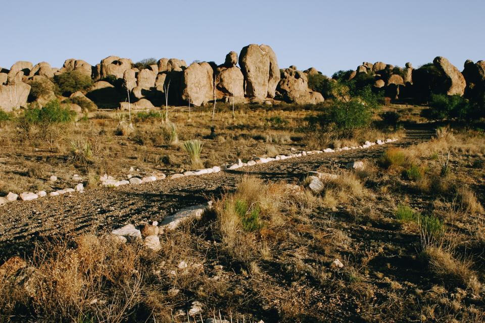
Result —
<svg viewBox="0 0 485 323"><path fill-rule="evenodd" d="M45 84L47 90L34 99L40 105L45 104L59 96L55 93L54 78L73 71L90 77L93 84L90 89L71 96L82 96L100 107L112 109L150 109L166 103L200 106L214 99L266 104L272 104L274 99L297 104L323 101L320 93L308 88L308 73L294 66L280 70L275 52L264 44L245 46L239 55L231 51L221 65L195 61L187 66L184 60L174 58L150 63L137 65L117 56L107 57L95 66L69 59L62 68L45 62L35 66L17 62L10 69L0 68L0 109L10 112L26 106L32 100L31 81Z"/></svg>

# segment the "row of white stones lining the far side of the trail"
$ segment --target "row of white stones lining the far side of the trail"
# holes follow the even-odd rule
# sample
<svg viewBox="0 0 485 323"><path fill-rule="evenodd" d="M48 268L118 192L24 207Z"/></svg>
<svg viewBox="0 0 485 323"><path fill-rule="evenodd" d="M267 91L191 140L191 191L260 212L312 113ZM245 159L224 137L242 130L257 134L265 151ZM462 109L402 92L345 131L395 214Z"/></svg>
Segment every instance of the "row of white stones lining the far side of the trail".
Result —
<svg viewBox="0 0 485 323"><path fill-rule="evenodd" d="M277 155L274 158L273 157L254 157L253 159L249 160L248 163L243 163L240 159L237 159L237 161L233 164L223 164L221 166L214 166L213 168L206 168L206 169L201 169L201 170L195 170L195 171L186 171L183 174L182 173L175 173L171 174L168 177L165 176L165 174L160 173L158 175L152 175L152 176L146 176L143 178L138 178L138 177L132 177L131 175L128 176L128 180L115 180L112 176L104 175L100 178L101 181L101 186L104 187L118 187L122 185L138 185L142 183L149 183L149 182L155 182L155 181L160 181L165 178L168 179L176 179L180 177L185 177L185 176L199 176L199 175L204 175L204 174L212 174L212 173L219 173L221 171L230 171L230 170L235 170L241 167L250 167L254 166L257 164L266 164L266 163L271 163L272 161L275 160L284 160L288 158L296 158L296 157L302 157L302 156L307 156L307 155L312 155L312 154L319 154L319 153L328 153L328 152L335 152L335 151L344 151L344 150L352 150L352 149L364 149L368 148L374 145L383 145L385 143L389 142L395 142L398 139L396 138L388 138L385 140L377 140L376 142L371 142L371 141L366 141L363 145L360 146L352 146L352 147L343 147L343 148L326 148L322 150L310 150L310 151L301 151L299 153L292 153L288 155ZM72 192L79 192L82 193L84 192L84 186L82 183L79 183L76 185L75 188L65 188L62 190L57 190L50 192L47 194L45 191L39 191L37 193L32 193L32 192L23 192L20 194L20 199L23 201L30 201L34 200L40 197L45 197L45 196L59 196L63 195L66 193L72 193ZM7 202L13 202L18 199L19 195L9 192L9 194L6 197L0 197L0 205L5 204Z"/></svg>

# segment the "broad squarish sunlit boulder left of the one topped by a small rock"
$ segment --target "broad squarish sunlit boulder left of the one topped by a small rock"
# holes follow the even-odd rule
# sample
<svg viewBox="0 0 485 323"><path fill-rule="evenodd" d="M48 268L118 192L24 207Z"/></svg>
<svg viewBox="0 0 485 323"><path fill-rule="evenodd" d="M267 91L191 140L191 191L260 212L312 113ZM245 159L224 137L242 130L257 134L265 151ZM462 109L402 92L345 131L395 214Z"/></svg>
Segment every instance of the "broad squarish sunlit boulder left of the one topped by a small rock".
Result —
<svg viewBox="0 0 485 323"><path fill-rule="evenodd" d="M207 62L192 63L183 71L182 100L196 106L214 99L213 70Z"/></svg>

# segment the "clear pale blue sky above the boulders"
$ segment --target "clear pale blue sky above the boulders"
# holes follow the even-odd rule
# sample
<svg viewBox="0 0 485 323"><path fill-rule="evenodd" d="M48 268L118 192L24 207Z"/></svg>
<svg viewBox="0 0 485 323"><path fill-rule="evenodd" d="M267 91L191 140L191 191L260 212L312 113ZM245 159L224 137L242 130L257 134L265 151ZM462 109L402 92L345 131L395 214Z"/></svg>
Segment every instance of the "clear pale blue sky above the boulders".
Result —
<svg viewBox="0 0 485 323"><path fill-rule="evenodd" d="M280 67L327 75L363 61L417 67L444 56L462 70L485 60L483 0L2 0L0 12L5 68L110 55L220 64L250 43L270 45Z"/></svg>

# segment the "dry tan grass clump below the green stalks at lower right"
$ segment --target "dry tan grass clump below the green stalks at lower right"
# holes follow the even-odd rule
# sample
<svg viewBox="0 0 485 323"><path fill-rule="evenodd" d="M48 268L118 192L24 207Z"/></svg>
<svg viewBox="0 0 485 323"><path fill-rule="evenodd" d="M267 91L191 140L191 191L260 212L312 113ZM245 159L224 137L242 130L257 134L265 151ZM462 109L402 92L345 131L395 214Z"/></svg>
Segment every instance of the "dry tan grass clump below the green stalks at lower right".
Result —
<svg viewBox="0 0 485 323"><path fill-rule="evenodd" d="M475 293L479 292L481 284L470 269L471 261L457 260L441 246L428 246L421 256L427 261L429 270L445 283L458 284Z"/></svg>

